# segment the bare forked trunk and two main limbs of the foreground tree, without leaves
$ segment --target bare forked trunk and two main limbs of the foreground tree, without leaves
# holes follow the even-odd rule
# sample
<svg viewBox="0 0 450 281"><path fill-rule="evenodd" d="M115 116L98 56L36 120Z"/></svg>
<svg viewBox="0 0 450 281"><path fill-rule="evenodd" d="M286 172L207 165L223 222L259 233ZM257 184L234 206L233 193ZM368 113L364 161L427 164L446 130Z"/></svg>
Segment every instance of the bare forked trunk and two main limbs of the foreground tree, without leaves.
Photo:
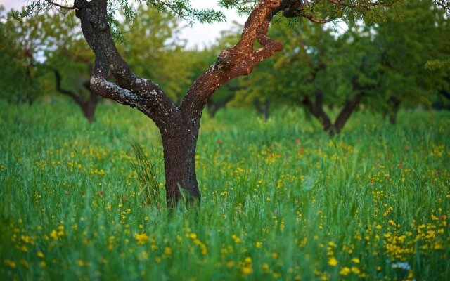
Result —
<svg viewBox="0 0 450 281"><path fill-rule="evenodd" d="M177 107L158 84L138 77L115 47L108 23L108 1L75 0L84 38L95 54L91 90L105 98L136 107L155 122L164 148L167 206L174 207L184 194L199 202L195 175L195 147L203 108L219 86L248 75L262 60L282 50L266 36L272 17L289 8L281 0L262 0L250 13L236 46L222 51L217 61L195 80ZM255 42L261 45L255 50ZM115 83L107 80L111 72ZM186 192L182 192L186 191Z"/></svg>

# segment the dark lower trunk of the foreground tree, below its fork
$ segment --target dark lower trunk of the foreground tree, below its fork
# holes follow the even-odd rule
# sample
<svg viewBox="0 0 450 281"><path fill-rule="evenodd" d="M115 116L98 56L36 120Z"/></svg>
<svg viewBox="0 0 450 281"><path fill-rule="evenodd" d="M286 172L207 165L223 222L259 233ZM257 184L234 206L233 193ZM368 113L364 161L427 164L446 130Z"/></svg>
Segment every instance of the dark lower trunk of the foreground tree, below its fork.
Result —
<svg viewBox="0 0 450 281"><path fill-rule="evenodd" d="M176 122L161 130L167 207L175 207L180 200L186 200L189 204L200 203L200 191L195 174L195 148L200 119L190 124L186 123ZM186 192L182 195L181 190Z"/></svg>

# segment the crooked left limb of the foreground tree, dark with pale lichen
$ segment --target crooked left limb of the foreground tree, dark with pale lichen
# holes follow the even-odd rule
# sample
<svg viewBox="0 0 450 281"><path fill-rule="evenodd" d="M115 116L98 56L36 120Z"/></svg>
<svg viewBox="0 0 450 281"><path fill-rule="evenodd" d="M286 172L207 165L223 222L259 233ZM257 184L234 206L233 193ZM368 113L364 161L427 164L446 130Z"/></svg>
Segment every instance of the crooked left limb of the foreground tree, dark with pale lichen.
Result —
<svg viewBox="0 0 450 281"><path fill-rule="evenodd" d="M105 98L138 108L158 127L167 123L167 116L176 114L177 109L158 85L131 72L120 56L110 34L107 1L75 0L75 6L79 7L77 17L82 21L84 37L96 57L91 89ZM106 81L108 70L117 85Z"/></svg>

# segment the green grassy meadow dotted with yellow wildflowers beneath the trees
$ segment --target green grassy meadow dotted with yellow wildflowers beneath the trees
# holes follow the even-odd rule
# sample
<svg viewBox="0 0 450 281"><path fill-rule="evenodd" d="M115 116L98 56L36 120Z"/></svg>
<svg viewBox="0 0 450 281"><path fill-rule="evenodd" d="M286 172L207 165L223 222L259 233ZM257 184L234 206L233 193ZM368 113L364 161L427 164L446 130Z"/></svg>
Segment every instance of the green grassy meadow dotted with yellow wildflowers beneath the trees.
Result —
<svg viewBox="0 0 450 281"><path fill-rule="evenodd" d="M96 116L0 104L1 280L450 280L450 112L357 112L334 138L301 110L205 114L198 212L164 207L150 119Z"/></svg>

